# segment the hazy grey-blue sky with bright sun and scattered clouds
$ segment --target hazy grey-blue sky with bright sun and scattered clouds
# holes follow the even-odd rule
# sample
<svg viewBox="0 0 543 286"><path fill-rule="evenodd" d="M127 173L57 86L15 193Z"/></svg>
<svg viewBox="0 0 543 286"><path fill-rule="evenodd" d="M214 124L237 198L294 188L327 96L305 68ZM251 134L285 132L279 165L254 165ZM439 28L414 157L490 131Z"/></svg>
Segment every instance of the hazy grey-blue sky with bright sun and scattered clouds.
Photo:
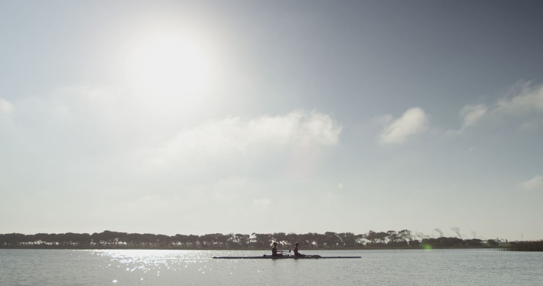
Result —
<svg viewBox="0 0 543 286"><path fill-rule="evenodd" d="M540 1L2 1L0 233L542 239Z"/></svg>

